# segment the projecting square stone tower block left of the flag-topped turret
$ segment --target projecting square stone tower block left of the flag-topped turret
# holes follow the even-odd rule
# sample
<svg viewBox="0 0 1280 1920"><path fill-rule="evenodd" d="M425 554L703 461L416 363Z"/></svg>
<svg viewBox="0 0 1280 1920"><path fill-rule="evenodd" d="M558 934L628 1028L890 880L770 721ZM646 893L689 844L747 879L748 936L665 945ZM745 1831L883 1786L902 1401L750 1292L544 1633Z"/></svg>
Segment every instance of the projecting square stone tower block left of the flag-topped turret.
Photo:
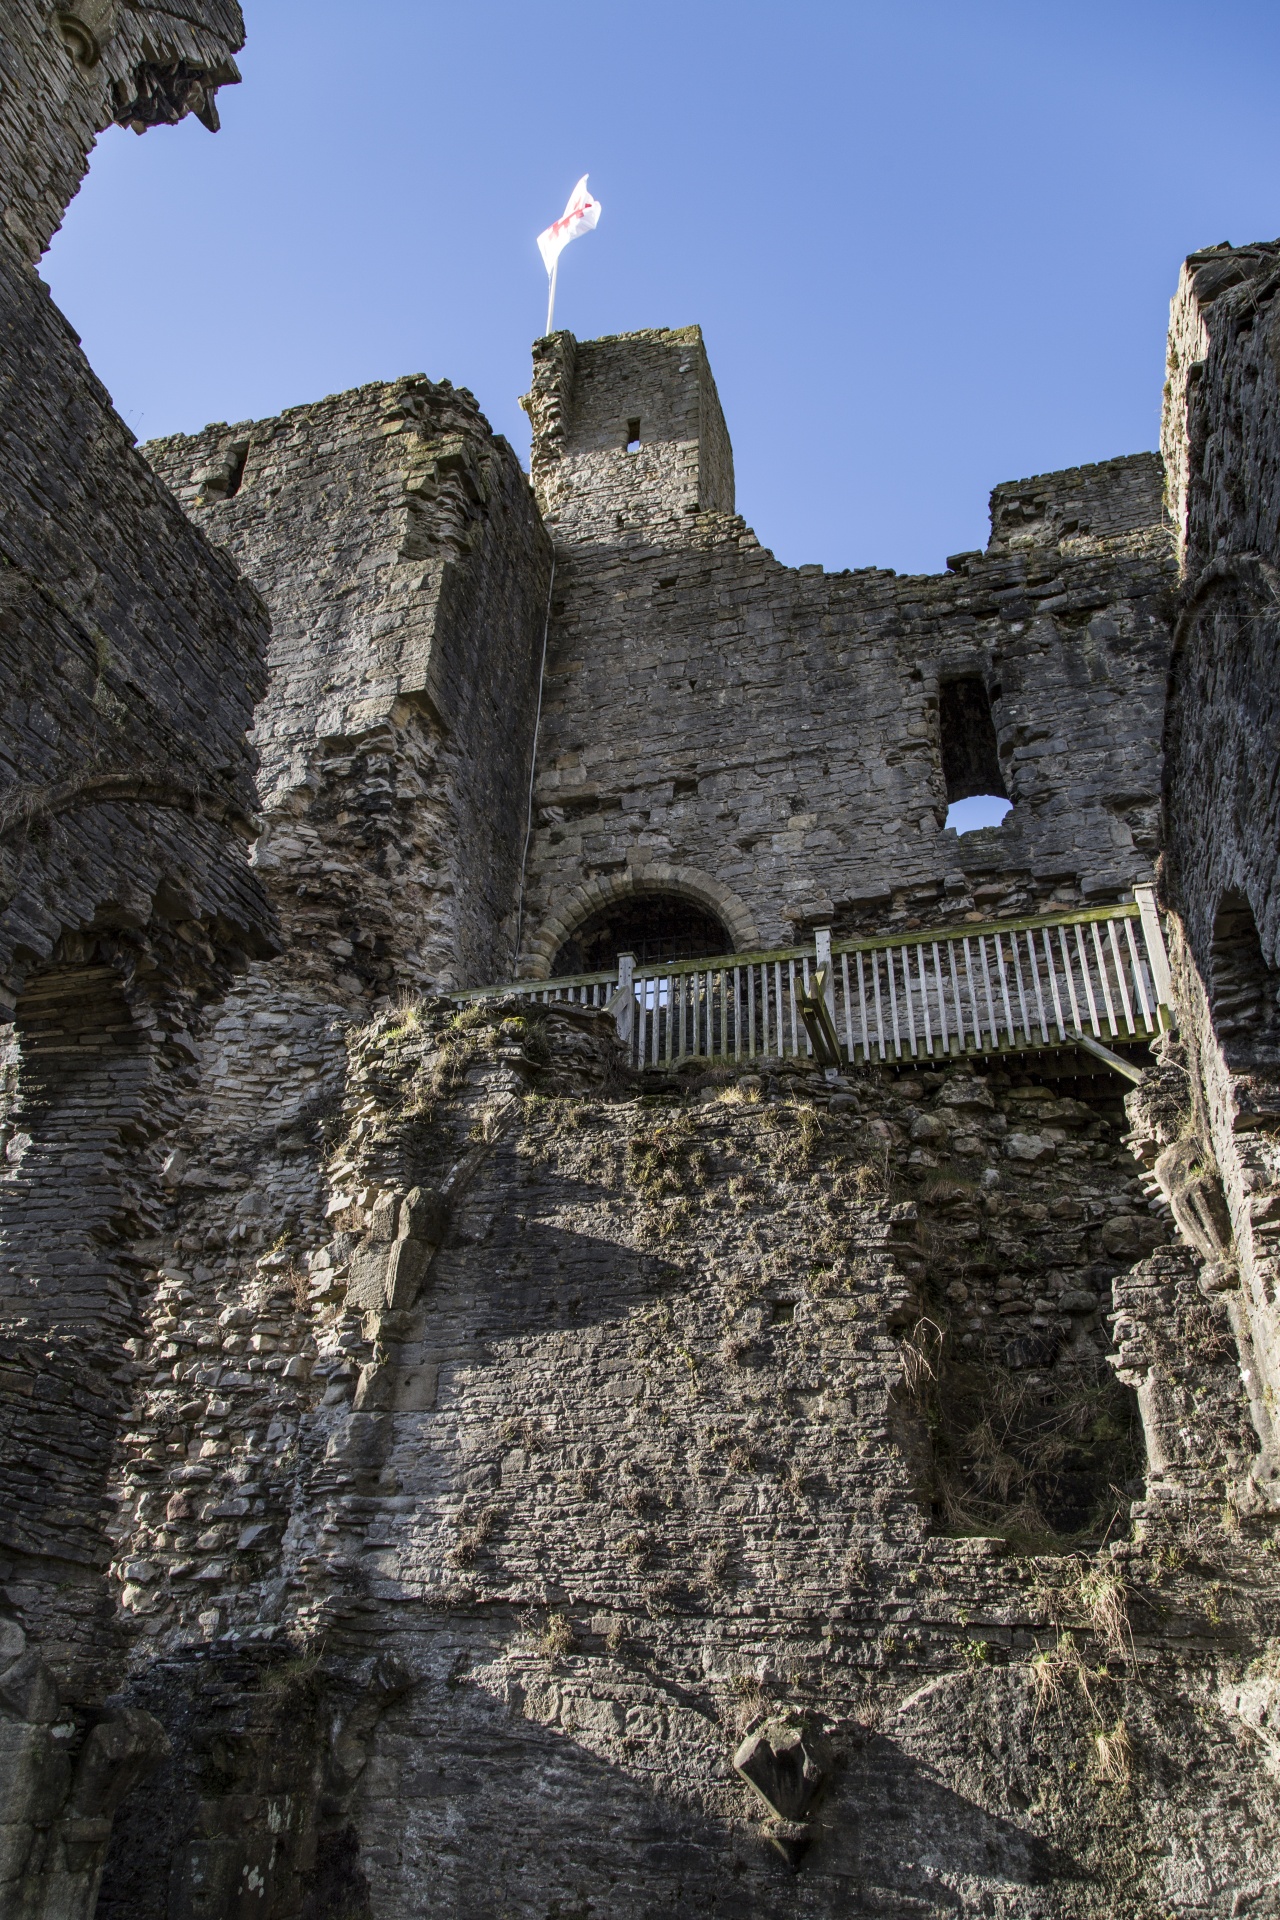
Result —
<svg viewBox="0 0 1280 1920"><path fill-rule="evenodd" d="M255 864L296 962L338 954L361 993L501 979L551 561L507 442L405 378L146 451L271 607Z"/></svg>

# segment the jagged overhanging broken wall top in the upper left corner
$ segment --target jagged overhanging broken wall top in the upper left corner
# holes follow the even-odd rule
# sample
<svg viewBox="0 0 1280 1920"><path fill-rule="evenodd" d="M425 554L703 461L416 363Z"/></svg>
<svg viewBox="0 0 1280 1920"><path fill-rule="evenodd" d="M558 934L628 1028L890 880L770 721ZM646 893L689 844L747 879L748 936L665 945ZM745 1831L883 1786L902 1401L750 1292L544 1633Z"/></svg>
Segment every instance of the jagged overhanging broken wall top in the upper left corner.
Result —
<svg viewBox="0 0 1280 1920"><path fill-rule="evenodd" d="M238 81L236 0L6 0L0 40L0 223L35 263L61 227L96 136L196 113Z"/></svg>

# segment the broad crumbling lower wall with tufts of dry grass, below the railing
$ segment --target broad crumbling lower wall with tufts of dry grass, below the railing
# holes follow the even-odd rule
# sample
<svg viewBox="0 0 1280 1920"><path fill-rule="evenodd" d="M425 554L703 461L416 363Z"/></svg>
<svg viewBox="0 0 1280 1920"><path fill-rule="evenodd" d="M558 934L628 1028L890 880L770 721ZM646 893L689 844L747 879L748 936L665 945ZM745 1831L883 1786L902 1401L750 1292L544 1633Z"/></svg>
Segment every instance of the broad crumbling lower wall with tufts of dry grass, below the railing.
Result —
<svg viewBox="0 0 1280 1920"><path fill-rule="evenodd" d="M518 1002L353 1035L328 1238L155 1327L119 1580L180 1795L127 1803L104 1910L173 1910L207 1836L273 1916L317 1859L370 1914L1265 1910L1230 1332L1117 1083L1025 1066L637 1083ZM1128 1538L1113 1286L1186 1396ZM332 1705L307 1764L274 1688Z"/></svg>

